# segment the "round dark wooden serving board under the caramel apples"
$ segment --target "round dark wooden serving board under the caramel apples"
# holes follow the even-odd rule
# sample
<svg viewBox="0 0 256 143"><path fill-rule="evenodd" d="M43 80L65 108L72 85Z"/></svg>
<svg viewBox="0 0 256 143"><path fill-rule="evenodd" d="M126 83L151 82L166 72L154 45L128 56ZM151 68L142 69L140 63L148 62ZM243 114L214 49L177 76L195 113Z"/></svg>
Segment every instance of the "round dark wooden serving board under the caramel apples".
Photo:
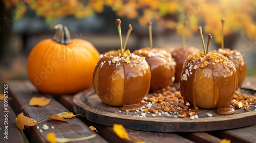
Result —
<svg viewBox="0 0 256 143"><path fill-rule="evenodd" d="M240 92L253 94L255 91L240 89ZM178 115L157 114L152 116L153 113L146 113L146 117L138 117L141 115L140 112L120 111L119 107L105 105L93 89L77 93L73 102L74 111L89 121L106 126L121 124L126 129L142 131L201 132L234 129L256 124L255 105L249 105L250 109L247 112L243 108L235 109L234 114L226 116L217 115L216 109L200 109L197 112L199 118L190 120L177 117ZM212 114L212 117L208 117L207 113Z"/></svg>

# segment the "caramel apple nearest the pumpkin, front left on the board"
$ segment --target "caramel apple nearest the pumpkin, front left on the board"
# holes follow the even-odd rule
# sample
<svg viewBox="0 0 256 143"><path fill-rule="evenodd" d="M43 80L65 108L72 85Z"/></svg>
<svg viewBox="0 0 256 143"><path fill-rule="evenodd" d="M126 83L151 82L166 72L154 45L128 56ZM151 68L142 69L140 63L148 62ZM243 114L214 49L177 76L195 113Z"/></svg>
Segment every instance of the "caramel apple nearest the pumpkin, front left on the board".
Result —
<svg viewBox="0 0 256 143"><path fill-rule="evenodd" d="M93 86L101 101L121 110L143 107L140 104L150 89L151 71L144 57L123 51L120 19L116 19L121 50L101 55L94 73Z"/></svg>

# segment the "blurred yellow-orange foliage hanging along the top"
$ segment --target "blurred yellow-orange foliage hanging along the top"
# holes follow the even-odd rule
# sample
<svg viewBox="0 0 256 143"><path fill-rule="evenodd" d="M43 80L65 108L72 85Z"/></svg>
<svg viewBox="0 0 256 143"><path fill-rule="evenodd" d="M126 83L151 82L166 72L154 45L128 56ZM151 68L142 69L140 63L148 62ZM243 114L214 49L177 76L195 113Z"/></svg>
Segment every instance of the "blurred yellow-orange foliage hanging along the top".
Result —
<svg viewBox="0 0 256 143"><path fill-rule="evenodd" d="M143 26L149 20L157 21L157 25L166 29L175 29L181 34L183 20L188 20L186 36L197 32L198 25L204 25L203 31L211 33L217 43L221 42L221 22L225 20L224 35L242 34L256 40L256 3L253 0L2 0L6 8L20 9L26 5L52 22L59 17L74 15L84 18L95 13L102 13L106 7L111 7L120 17L138 19ZM19 10L21 18L27 9ZM175 16L175 18L173 18ZM171 18L170 18L171 17ZM190 29L190 30L189 30Z"/></svg>

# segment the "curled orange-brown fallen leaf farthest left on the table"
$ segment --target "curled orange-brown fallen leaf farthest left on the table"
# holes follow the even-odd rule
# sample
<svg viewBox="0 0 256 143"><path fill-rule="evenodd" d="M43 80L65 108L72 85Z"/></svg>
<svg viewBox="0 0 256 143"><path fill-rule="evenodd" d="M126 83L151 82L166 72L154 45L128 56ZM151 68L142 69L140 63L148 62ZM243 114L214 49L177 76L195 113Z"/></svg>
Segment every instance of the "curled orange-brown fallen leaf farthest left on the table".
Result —
<svg viewBox="0 0 256 143"><path fill-rule="evenodd" d="M16 126L20 131L23 131L24 126L34 126L37 123L35 119L25 116L23 112L17 115L15 121Z"/></svg>

